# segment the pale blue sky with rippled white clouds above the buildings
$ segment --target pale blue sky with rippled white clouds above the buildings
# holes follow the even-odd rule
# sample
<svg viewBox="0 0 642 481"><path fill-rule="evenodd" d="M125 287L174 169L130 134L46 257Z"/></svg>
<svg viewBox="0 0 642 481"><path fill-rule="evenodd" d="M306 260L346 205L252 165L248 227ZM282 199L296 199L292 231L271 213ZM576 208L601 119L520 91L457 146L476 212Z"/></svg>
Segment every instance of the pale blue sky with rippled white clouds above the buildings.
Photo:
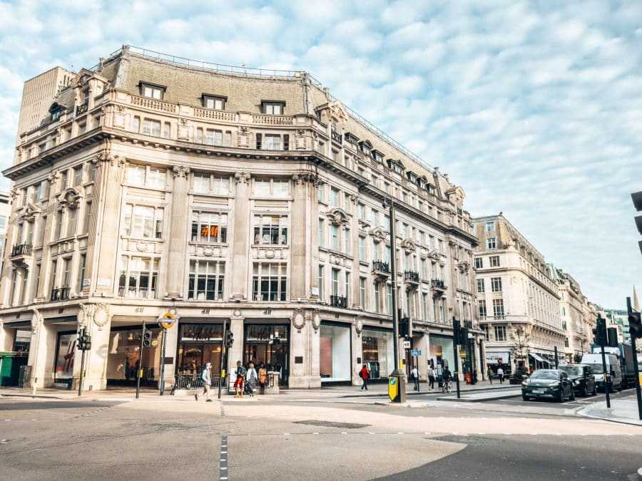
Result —
<svg viewBox="0 0 642 481"><path fill-rule="evenodd" d="M22 83L128 43L300 69L504 215L592 301L640 278L642 2L0 2L0 166ZM0 187L8 187L6 180Z"/></svg>

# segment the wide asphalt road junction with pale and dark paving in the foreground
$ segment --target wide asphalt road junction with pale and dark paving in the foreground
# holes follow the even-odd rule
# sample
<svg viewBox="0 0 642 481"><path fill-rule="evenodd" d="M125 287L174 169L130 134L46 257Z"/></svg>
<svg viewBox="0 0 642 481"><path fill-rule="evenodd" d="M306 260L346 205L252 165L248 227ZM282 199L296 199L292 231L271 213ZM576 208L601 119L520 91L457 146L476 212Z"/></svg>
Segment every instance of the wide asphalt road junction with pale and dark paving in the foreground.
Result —
<svg viewBox="0 0 642 481"><path fill-rule="evenodd" d="M462 404L0 398L0 477L608 480L642 466L642 428Z"/></svg>

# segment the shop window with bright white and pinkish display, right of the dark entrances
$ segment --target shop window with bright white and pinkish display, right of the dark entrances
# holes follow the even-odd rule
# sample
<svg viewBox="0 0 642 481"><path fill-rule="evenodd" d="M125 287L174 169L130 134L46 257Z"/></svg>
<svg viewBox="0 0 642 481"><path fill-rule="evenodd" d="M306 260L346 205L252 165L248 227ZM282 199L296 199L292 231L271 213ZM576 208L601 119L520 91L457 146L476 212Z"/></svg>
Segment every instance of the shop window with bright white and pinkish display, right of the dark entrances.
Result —
<svg viewBox="0 0 642 481"><path fill-rule="evenodd" d="M321 324L321 381L350 381L350 326Z"/></svg>

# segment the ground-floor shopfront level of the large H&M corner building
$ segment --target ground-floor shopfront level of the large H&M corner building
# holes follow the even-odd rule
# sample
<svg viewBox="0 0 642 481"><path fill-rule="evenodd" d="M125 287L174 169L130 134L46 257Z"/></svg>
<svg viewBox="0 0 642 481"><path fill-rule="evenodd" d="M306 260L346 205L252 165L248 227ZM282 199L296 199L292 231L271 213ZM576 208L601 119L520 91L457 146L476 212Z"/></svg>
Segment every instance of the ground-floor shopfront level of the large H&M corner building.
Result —
<svg viewBox="0 0 642 481"><path fill-rule="evenodd" d="M177 321L163 331L158 316L170 310ZM280 386L285 388L359 385L358 373L364 364L375 380L387 379L395 367L389 319L355 316L347 309L324 311L314 305L265 309L238 304L193 308L178 303L140 307L87 302L12 315L30 317L13 323L3 318L0 343L13 347L19 339L29 346L30 382L39 387L78 387L81 329L92 341L84 358L84 390L133 388L137 373L143 386L158 387L164 378L170 388L177 376L198 376L206 363L212 364L213 376L230 373L237 361L245 366L250 362L264 364L268 371L278 373ZM21 336L16 338L18 328ZM229 329L234 338L227 356L223 356L223 329ZM408 346L403 339L397 342L408 373L414 363L424 378L431 365L449 366L454 371L452 336L443 329L432 333L428 326L415 326ZM411 358L411 349L421 355ZM475 366L477 356L464 357L459 369L462 373L467 360Z"/></svg>

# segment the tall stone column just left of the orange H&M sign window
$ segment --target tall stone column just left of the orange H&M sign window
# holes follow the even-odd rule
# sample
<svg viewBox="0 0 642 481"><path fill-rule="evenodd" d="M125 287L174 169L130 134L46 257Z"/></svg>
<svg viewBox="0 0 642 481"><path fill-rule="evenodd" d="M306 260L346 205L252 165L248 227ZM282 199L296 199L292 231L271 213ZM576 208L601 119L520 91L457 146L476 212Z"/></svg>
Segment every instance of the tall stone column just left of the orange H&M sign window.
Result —
<svg viewBox="0 0 642 481"><path fill-rule="evenodd" d="M165 259L167 284L165 291L171 298L183 298L185 279L185 256L187 255L187 222L189 218L188 186L190 169L184 165L174 165L172 187L172 213L170 220L169 251Z"/></svg>

